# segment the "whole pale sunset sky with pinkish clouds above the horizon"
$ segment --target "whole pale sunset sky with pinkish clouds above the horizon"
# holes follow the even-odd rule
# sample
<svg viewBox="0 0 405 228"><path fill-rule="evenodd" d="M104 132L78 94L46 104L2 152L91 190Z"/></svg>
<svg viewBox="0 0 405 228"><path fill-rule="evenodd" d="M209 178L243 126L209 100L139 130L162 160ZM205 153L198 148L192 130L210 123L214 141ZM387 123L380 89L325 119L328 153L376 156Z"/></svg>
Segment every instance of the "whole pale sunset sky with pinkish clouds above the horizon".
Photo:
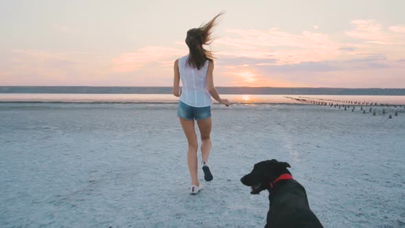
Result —
<svg viewBox="0 0 405 228"><path fill-rule="evenodd" d="M213 29L221 87L405 88L405 1L0 0L0 86L173 84Z"/></svg>

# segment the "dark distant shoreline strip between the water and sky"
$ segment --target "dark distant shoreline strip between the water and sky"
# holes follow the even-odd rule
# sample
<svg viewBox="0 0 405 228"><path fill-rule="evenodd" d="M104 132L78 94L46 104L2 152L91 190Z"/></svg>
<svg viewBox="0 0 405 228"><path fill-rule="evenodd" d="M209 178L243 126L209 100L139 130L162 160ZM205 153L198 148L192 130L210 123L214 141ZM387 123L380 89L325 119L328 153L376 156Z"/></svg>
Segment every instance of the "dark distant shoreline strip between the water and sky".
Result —
<svg viewBox="0 0 405 228"><path fill-rule="evenodd" d="M405 95L405 89L217 87L222 94L252 95ZM0 93L172 94L172 87L0 87Z"/></svg>

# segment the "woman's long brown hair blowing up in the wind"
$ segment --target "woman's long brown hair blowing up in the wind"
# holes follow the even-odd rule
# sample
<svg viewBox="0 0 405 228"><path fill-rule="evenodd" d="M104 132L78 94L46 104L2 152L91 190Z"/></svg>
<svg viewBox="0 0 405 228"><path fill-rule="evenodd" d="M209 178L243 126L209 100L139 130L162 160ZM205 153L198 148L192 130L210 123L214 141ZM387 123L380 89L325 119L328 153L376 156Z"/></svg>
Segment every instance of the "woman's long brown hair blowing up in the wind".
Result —
<svg viewBox="0 0 405 228"><path fill-rule="evenodd" d="M185 43L189 47L187 63L191 67L200 69L205 65L205 61L213 59L212 52L204 49L203 45L211 44L211 29L216 25L218 16L222 14L224 14L224 12L220 12L218 15L214 16L209 23L187 31L187 37L185 38Z"/></svg>

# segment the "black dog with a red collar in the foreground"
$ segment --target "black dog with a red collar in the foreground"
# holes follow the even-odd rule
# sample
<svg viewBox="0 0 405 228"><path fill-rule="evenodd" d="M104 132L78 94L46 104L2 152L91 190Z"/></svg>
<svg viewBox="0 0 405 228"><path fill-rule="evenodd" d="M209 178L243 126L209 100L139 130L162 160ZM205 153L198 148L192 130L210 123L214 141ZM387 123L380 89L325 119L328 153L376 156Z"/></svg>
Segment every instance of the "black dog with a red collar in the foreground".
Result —
<svg viewBox="0 0 405 228"><path fill-rule="evenodd" d="M261 161L240 181L251 186L251 194L268 190L270 209L265 227L323 227L311 211L304 187L292 179L286 162Z"/></svg>

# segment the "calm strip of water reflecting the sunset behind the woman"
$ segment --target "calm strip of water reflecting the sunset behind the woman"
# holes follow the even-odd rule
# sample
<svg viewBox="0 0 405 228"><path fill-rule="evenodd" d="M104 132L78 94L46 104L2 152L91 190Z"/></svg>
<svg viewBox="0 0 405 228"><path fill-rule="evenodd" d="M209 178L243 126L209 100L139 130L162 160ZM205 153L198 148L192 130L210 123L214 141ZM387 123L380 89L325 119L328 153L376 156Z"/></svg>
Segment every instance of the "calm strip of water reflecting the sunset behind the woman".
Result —
<svg viewBox="0 0 405 228"><path fill-rule="evenodd" d="M297 104L291 98L405 104L405 95L221 95L233 103ZM0 102L176 103L170 94L0 93Z"/></svg>

